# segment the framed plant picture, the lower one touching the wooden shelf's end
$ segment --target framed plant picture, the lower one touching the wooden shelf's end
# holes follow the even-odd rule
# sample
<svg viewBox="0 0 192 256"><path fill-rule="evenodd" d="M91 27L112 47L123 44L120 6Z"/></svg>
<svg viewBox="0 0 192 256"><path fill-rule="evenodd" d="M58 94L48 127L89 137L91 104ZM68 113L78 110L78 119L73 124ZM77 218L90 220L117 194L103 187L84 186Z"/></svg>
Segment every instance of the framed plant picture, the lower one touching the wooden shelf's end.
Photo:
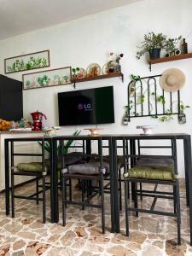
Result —
<svg viewBox="0 0 192 256"><path fill-rule="evenodd" d="M23 90L72 83L72 67L61 67L22 76Z"/></svg>

